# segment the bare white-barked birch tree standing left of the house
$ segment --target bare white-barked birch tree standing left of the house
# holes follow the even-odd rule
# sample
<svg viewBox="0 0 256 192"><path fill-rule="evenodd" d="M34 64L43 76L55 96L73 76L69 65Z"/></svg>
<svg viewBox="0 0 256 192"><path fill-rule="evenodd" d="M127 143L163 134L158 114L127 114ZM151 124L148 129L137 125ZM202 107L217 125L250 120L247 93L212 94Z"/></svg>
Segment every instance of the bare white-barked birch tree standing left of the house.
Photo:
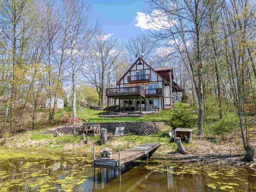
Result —
<svg viewBox="0 0 256 192"><path fill-rule="evenodd" d="M65 0L65 16L68 26L68 54L70 55L73 117L76 117L76 74L84 65L91 37L98 28L88 18L91 6L80 0Z"/></svg>

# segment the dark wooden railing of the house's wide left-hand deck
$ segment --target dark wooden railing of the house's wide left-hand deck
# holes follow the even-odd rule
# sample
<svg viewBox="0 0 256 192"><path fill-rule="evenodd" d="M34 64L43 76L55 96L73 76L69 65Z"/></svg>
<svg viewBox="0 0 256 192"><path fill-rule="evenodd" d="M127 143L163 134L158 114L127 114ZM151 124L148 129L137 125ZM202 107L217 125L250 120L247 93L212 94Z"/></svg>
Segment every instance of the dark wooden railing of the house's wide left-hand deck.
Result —
<svg viewBox="0 0 256 192"><path fill-rule="evenodd" d="M145 96L145 90L142 89L140 86L134 87L121 87L121 88L110 88L106 90L106 95L113 95L113 94L126 94L126 93L134 93L134 94L141 94Z"/></svg>

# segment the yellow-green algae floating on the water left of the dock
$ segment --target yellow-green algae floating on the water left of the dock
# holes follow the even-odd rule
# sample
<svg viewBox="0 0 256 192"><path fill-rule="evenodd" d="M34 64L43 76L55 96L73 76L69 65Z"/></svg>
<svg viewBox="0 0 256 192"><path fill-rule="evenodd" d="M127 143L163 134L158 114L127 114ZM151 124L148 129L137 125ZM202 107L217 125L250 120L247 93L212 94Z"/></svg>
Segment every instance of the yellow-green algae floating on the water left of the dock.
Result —
<svg viewBox="0 0 256 192"><path fill-rule="evenodd" d="M66 165L61 166L62 161ZM38 154L0 154L0 191L55 191L57 188L70 191L78 181L79 185L85 181L86 176L77 173L91 167L86 164L90 161L86 157L61 159ZM7 171L10 169L16 172ZM59 186L56 185L58 180L63 181Z"/></svg>

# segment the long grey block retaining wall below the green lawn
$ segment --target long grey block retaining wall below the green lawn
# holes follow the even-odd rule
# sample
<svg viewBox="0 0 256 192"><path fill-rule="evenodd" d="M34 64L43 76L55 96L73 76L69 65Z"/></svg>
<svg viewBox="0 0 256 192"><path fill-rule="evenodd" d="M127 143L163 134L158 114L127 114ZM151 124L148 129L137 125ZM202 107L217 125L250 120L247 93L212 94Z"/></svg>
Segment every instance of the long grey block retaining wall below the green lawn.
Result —
<svg viewBox="0 0 256 192"><path fill-rule="evenodd" d="M84 123L84 125L100 124L100 128L105 128L108 133L115 133L116 127L125 127L124 134L132 133L137 135L148 135L157 133L164 125L164 122L101 122L101 123ZM85 130L83 125L75 126L76 132ZM54 133L71 134L74 132L74 126L67 125L61 127L55 127L45 131L47 134Z"/></svg>

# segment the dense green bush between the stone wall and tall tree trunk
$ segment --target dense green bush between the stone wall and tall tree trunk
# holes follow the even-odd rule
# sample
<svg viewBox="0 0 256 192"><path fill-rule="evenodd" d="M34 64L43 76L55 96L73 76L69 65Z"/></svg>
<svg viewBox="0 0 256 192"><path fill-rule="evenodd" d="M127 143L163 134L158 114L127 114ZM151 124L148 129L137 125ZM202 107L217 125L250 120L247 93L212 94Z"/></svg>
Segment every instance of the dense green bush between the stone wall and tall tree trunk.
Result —
<svg viewBox="0 0 256 192"><path fill-rule="evenodd" d="M185 103L175 103L175 107L171 114L170 125L172 129L178 127L193 129L196 125L195 114L189 109L189 106Z"/></svg>

